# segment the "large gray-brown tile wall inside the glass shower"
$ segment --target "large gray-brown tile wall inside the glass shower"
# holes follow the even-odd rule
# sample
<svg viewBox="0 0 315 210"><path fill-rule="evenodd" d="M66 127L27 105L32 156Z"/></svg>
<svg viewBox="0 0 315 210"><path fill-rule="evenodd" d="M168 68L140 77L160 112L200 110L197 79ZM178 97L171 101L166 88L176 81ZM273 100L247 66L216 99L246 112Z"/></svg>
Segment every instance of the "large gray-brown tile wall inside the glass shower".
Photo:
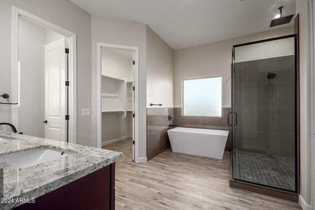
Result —
<svg viewBox="0 0 315 210"><path fill-rule="evenodd" d="M235 149L294 157L294 78L294 56L235 64Z"/></svg>

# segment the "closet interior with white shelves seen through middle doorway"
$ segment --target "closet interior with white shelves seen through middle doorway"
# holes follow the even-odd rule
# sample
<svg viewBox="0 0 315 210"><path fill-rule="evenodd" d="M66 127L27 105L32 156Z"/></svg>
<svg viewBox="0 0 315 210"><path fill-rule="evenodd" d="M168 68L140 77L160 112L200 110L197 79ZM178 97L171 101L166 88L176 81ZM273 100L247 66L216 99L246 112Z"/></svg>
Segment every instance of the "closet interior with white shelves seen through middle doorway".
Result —
<svg viewBox="0 0 315 210"><path fill-rule="evenodd" d="M100 146L135 160L135 50L100 47ZM99 141L99 139L98 139ZM99 144L99 142L98 142Z"/></svg>

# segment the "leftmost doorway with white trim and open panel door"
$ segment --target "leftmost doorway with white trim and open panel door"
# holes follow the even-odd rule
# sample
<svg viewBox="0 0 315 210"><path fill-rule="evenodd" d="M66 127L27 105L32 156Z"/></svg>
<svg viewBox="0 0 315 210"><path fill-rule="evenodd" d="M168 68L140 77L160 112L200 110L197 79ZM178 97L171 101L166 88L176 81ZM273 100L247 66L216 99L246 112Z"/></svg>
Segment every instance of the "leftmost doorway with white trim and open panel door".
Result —
<svg viewBox="0 0 315 210"><path fill-rule="evenodd" d="M76 143L75 34L14 7L18 132Z"/></svg>

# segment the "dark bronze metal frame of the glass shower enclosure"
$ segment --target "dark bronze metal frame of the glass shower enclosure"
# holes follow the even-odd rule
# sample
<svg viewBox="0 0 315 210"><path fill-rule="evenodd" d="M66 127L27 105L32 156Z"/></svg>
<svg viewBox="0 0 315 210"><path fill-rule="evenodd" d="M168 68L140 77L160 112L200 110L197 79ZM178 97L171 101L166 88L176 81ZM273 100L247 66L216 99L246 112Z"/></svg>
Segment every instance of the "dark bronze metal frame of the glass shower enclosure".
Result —
<svg viewBox="0 0 315 210"><path fill-rule="evenodd" d="M259 183L252 183L248 182L245 180L238 180L234 179L233 177L233 144L235 141L235 136L234 132L232 129L232 153L231 153L231 161L230 161L230 180L229 180L229 186L235 187L235 188L240 188L248 191L252 191L255 193L260 193L260 194L265 194L285 200L290 200L294 202L298 202L298 195L299 195L299 190L300 190L300 153L299 153L299 15L294 19L294 34L291 35L285 35L285 36L280 36L280 37L275 37L275 38L270 38L270 39L264 39L264 40L258 40L258 41L253 41L253 42L248 42L248 43L243 43L243 44L238 44L234 45L232 49L232 64L231 64L231 75L233 75L234 71L234 50L236 47L241 47L241 46L246 46L246 45L252 45L252 44L257 44L257 43L263 43L263 42L268 42L268 41L274 41L274 40L280 40L280 39L285 39L285 38L292 38L294 37L294 43L295 43L295 192L291 191L286 191L274 187L269 187L265 186ZM231 77L231 99L233 103L233 76ZM230 112L232 117L232 126L236 126L237 124L237 114L233 111ZM236 122L236 124L235 124ZM229 123L229 122L228 122Z"/></svg>

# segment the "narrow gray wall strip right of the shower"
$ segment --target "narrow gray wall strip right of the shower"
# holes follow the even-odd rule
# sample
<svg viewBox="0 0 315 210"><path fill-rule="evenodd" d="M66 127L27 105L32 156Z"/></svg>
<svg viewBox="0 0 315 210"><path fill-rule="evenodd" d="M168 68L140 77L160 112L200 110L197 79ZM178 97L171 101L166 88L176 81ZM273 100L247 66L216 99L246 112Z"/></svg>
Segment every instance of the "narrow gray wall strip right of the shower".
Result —
<svg viewBox="0 0 315 210"><path fill-rule="evenodd" d="M313 3L314 4L314 3ZM312 204L312 141L314 142L314 117L312 116L312 69L311 60L311 1L296 0L296 13L300 14L300 164L301 164L301 196L300 203L304 208ZM313 22L314 24L314 22ZM314 83L314 81L313 81ZM312 128L313 127L313 128ZM314 152L314 150L313 150ZM314 156L314 155L313 155ZM313 163L314 164L314 163ZM314 183L314 181L313 181ZM315 208L315 201L313 208ZM309 205L309 206L307 206Z"/></svg>

